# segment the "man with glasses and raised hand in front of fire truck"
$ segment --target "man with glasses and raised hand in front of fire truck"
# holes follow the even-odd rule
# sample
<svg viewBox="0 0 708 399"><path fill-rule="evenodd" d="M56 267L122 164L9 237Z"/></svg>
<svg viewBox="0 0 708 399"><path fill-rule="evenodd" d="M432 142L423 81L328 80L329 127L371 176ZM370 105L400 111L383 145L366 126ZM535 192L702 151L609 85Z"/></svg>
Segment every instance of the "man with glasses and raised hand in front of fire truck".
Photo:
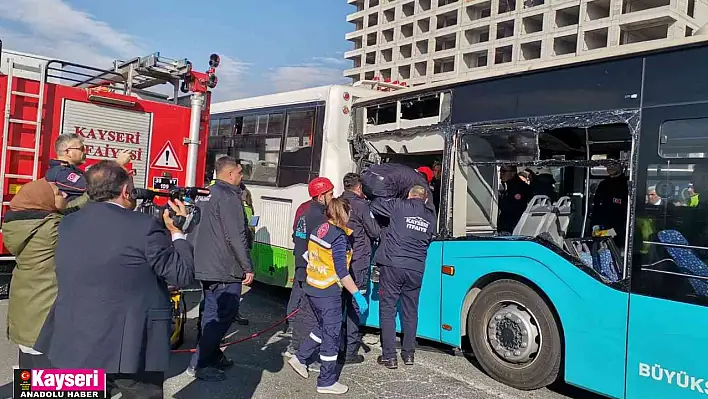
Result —
<svg viewBox="0 0 708 399"><path fill-rule="evenodd" d="M61 134L54 143L56 159L49 161L49 170L44 176L48 182L56 184L60 191L66 194L69 210L80 208L87 201L86 178L79 165L86 161L86 146L83 139L76 133ZM130 153L121 151L116 162L125 168L130 162Z"/></svg>

